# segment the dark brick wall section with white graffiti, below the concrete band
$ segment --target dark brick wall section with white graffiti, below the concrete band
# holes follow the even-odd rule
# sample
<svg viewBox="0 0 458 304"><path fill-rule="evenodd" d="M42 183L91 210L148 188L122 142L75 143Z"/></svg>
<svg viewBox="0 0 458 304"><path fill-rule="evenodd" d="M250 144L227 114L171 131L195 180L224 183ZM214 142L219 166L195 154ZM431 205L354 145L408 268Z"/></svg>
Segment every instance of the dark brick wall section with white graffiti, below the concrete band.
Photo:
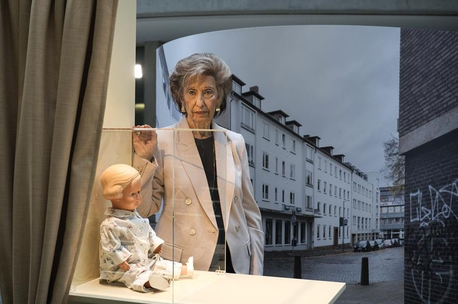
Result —
<svg viewBox="0 0 458 304"><path fill-rule="evenodd" d="M458 303L458 129L406 155L406 303Z"/></svg>

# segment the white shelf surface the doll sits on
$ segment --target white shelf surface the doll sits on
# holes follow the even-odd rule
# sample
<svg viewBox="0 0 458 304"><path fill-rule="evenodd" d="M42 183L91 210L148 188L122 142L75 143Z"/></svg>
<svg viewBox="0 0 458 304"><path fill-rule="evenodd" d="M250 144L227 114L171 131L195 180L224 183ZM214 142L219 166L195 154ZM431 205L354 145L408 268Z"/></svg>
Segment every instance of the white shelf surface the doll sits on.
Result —
<svg viewBox="0 0 458 304"><path fill-rule="evenodd" d="M165 291L148 293L95 279L76 286L69 293L69 303L319 304L333 303L344 290L345 283L339 282L194 271L193 279L177 280Z"/></svg>

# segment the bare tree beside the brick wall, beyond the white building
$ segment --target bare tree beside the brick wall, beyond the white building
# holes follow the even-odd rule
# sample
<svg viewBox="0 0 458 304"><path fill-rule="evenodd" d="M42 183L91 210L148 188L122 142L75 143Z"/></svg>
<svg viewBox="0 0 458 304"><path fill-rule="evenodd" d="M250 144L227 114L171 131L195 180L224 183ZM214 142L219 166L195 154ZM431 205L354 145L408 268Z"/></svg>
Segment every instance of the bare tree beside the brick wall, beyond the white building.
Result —
<svg viewBox="0 0 458 304"><path fill-rule="evenodd" d="M391 135L391 139L383 143L383 150L385 165L381 173L393 184L391 191L394 194L404 192L406 162L405 157L399 155L399 139Z"/></svg>

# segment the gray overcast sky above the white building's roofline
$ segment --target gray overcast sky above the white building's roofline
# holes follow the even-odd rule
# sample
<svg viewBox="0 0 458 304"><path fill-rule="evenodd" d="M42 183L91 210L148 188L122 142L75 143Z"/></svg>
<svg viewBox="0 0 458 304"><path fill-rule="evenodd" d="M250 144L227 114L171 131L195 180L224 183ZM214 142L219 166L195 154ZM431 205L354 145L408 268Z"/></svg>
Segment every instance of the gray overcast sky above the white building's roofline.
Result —
<svg viewBox="0 0 458 304"><path fill-rule="evenodd" d="M168 69L215 53L246 86L259 86L265 112L281 109L364 172L383 166L397 136L399 28L303 25L234 29L164 45ZM380 186L388 185L381 176Z"/></svg>

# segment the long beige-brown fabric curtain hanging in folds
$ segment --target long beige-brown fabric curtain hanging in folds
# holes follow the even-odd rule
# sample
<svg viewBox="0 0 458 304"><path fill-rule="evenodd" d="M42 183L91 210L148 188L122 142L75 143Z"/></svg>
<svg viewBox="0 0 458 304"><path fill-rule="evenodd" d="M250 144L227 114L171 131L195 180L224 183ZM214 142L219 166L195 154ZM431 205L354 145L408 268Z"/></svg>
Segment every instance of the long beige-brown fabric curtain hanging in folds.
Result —
<svg viewBox="0 0 458 304"><path fill-rule="evenodd" d="M66 302L100 144L117 0L0 2L0 290Z"/></svg>

